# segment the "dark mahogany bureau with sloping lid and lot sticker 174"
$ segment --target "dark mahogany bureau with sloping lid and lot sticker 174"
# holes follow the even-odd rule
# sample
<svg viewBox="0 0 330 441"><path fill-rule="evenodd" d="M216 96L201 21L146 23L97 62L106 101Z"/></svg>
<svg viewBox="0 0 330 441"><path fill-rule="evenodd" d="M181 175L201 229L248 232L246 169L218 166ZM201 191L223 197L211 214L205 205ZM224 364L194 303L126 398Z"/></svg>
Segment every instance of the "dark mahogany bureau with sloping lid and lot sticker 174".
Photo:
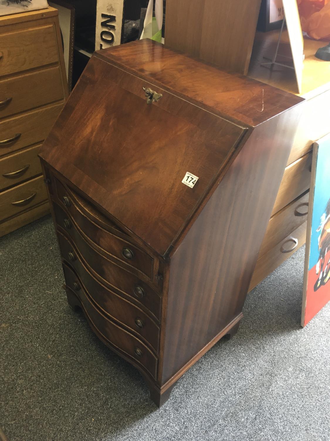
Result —
<svg viewBox="0 0 330 441"><path fill-rule="evenodd" d="M69 304L158 406L238 329L302 101L142 40L95 52L43 144Z"/></svg>

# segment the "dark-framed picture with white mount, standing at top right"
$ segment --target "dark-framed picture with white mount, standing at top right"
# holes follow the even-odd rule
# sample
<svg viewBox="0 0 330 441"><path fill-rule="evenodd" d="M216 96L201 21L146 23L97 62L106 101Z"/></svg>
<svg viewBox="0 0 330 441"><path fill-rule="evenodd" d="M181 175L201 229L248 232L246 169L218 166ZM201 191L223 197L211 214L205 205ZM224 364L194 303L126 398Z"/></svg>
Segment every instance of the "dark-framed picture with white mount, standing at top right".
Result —
<svg viewBox="0 0 330 441"><path fill-rule="evenodd" d="M280 29L284 19L282 0L262 0L257 22L257 30L268 32Z"/></svg>

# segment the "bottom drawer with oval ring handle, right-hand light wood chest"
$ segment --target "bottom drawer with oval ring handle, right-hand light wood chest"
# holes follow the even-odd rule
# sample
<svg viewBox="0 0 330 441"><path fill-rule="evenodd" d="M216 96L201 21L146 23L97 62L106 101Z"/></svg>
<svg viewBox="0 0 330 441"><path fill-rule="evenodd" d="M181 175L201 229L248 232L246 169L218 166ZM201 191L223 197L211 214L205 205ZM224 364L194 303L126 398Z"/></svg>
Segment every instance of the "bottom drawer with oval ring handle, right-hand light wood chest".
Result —
<svg viewBox="0 0 330 441"><path fill-rule="evenodd" d="M272 273L281 263L286 261L292 254L306 242L307 221L286 236L274 248L258 258L254 269L249 291Z"/></svg>

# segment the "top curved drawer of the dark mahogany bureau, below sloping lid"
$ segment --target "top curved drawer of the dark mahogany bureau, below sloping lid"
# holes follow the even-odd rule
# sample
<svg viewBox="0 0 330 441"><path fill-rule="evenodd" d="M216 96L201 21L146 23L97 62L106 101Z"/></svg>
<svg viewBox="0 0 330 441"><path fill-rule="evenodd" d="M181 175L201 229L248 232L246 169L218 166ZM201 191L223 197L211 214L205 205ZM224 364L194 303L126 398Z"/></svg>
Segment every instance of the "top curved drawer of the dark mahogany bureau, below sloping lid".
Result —
<svg viewBox="0 0 330 441"><path fill-rule="evenodd" d="M117 235L100 228L88 219L88 217L78 209L72 197L72 193L67 191L58 180L56 180L56 188L60 203L63 207L66 207L66 210L69 211L70 216L72 216L70 217L64 213L57 204L54 204L56 220L61 226L64 226L64 219L70 217L70 220L77 224L77 227L84 235L98 245L103 252L108 255L110 254L110 258L119 259L120 262L139 269L139 271L152 279L154 259L149 254L134 246L132 243L119 238ZM126 255L128 255L128 258L125 257Z"/></svg>

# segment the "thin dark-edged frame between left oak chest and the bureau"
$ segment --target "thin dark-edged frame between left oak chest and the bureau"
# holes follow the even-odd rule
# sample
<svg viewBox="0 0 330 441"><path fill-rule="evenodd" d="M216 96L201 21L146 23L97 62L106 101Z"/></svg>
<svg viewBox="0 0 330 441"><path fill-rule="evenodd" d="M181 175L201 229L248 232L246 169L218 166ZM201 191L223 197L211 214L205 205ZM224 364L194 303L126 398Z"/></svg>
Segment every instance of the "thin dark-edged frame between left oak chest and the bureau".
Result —
<svg viewBox="0 0 330 441"><path fill-rule="evenodd" d="M72 4L62 0L49 1L48 4L59 11L59 26L61 29L64 63L68 79L69 92L72 90L73 51L75 30L75 9Z"/></svg>

